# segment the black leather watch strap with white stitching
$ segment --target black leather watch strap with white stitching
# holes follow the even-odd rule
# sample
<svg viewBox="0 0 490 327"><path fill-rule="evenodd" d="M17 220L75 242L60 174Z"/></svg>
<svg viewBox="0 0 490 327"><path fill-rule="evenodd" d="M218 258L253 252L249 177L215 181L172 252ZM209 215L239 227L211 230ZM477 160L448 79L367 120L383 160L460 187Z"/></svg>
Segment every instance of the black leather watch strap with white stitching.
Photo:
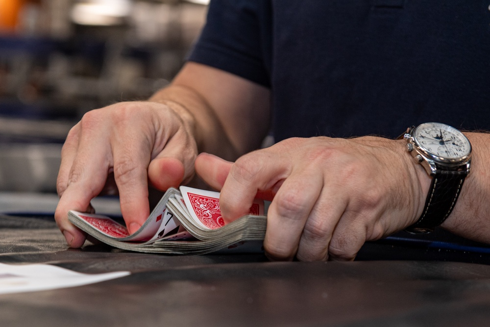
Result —
<svg viewBox="0 0 490 327"><path fill-rule="evenodd" d="M441 225L449 216L458 200L468 171L439 170L432 177L424 211L417 223L406 230L413 233L427 233Z"/></svg>

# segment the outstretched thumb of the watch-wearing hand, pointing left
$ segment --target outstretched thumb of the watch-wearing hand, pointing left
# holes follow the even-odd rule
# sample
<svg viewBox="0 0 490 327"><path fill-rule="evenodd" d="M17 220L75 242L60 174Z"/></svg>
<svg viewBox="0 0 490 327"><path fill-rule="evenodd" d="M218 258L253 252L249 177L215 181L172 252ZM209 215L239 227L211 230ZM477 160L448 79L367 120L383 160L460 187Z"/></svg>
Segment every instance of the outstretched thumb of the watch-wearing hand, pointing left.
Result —
<svg viewBox="0 0 490 327"><path fill-rule="evenodd" d="M209 186L221 190L233 162L209 153L200 153L195 162L196 174Z"/></svg>

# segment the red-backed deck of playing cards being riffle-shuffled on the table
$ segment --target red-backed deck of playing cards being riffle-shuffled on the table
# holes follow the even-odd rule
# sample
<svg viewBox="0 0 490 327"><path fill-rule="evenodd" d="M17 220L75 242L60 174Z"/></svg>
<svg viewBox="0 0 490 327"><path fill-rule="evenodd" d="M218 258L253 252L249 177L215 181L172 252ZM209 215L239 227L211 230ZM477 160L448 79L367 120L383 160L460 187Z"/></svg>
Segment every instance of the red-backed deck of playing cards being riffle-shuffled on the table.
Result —
<svg viewBox="0 0 490 327"><path fill-rule="evenodd" d="M133 234L107 216L70 211L68 219L113 247L169 254L260 252L267 223L264 201L255 200L248 215L225 225L220 193L186 186L167 190Z"/></svg>

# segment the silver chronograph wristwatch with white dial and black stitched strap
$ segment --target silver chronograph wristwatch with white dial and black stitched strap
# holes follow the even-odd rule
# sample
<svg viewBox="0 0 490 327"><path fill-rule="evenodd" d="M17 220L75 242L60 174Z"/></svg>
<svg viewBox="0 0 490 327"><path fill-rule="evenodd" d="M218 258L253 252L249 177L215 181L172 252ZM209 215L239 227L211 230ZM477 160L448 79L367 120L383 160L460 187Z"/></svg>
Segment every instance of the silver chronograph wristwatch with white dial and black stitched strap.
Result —
<svg viewBox="0 0 490 327"><path fill-rule="evenodd" d="M470 170L471 143L461 131L441 123L409 127L403 138L415 162L432 176L422 215L406 230L429 233L444 222L458 200Z"/></svg>

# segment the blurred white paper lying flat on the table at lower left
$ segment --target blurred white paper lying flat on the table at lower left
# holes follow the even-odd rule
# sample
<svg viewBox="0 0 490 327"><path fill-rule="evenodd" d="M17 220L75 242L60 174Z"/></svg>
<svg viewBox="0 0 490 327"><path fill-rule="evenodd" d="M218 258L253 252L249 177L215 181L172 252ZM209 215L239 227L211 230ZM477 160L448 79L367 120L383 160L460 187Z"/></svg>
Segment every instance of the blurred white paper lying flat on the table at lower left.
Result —
<svg viewBox="0 0 490 327"><path fill-rule="evenodd" d="M124 277L130 272L82 274L47 264L0 263L0 294L46 291Z"/></svg>

